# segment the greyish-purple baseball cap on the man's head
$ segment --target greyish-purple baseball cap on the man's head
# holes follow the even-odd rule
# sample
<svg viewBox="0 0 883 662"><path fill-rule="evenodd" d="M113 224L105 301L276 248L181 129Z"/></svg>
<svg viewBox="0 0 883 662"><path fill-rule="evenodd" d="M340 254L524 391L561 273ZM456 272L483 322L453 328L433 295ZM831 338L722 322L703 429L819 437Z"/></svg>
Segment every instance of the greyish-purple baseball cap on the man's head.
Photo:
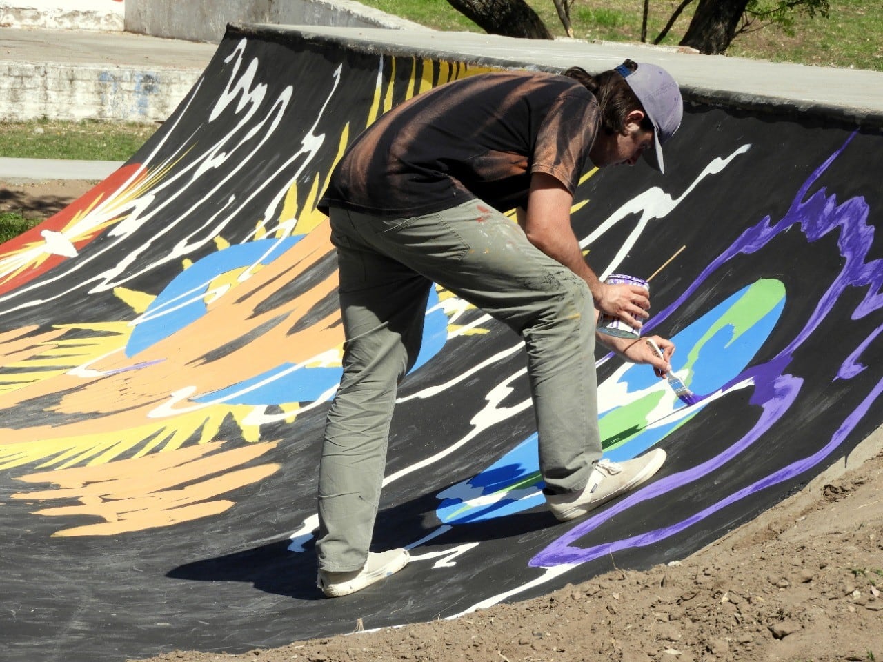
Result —
<svg viewBox="0 0 883 662"><path fill-rule="evenodd" d="M616 67L631 91L638 97L644 111L653 123L655 148L644 153L645 161L665 174L662 162L662 143L675 135L683 117L681 89L668 71L653 64L638 64L631 71L625 64Z"/></svg>

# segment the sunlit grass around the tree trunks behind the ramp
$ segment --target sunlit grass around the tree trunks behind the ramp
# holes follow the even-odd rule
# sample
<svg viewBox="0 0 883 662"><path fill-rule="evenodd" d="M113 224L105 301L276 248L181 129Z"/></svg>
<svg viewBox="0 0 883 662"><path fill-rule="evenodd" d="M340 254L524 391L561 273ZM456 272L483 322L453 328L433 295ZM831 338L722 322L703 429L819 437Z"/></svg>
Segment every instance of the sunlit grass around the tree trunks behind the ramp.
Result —
<svg viewBox="0 0 883 662"><path fill-rule="evenodd" d="M453 9L447 0L359 0L375 9L432 27L436 30L481 32L479 26ZM527 0L555 36L564 28L552 0ZM653 0L647 21L648 41L665 26L675 6L671 0ZM676 44L692 16L691 5L666 37ZM574 36L597 41L639 41L643 0L575 0L570 10ZM740 34L727 55L776 62L818 64L840 68L883 71L883 3L880 0L831 0L829 18L795 14L794 26L784 30L767 26Z"/></svg>

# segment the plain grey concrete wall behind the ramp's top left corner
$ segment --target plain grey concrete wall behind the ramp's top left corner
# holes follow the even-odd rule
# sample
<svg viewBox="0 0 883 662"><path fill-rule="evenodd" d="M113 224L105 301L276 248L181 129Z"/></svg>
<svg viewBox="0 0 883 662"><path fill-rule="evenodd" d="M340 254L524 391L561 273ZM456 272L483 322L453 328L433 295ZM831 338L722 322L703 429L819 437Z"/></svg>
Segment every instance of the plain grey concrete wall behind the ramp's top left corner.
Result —
<svg viewBox="0 0 883 662"><path fill-rule="evenodd" d="M427 29L351 0L125 0L127 32L216 43L228 23Z"/></svg>

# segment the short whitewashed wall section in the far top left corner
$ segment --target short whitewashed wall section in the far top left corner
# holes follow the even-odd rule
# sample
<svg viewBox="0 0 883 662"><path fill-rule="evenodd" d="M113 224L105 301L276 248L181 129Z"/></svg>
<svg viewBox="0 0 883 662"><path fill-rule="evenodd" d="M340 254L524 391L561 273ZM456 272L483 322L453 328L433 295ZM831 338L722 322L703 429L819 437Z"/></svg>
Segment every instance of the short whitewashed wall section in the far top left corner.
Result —
<svg viewBox="0 0 883 662"><path fill-rule="evenodd" d="M0 0L0 26L123 29L124 0Z"/></svg>

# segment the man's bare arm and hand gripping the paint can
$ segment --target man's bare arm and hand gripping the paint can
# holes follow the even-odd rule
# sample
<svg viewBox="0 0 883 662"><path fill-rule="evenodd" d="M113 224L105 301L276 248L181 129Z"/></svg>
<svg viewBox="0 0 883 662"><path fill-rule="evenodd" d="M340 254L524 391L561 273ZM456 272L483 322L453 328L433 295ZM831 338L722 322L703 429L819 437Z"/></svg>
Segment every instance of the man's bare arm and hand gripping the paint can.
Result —
<svg viewBox="0 0 883 662"><path fill-rule="evenodd" d="M635 285L608 285L600 282L583 259L577 236L570 227L573 196L560 181L546 173L534 173L527 199L527 210L518 210L518 223L528 241L550 258L562 263L589 286L595 307L640 328L647 317L650 299Z"/></svg>

